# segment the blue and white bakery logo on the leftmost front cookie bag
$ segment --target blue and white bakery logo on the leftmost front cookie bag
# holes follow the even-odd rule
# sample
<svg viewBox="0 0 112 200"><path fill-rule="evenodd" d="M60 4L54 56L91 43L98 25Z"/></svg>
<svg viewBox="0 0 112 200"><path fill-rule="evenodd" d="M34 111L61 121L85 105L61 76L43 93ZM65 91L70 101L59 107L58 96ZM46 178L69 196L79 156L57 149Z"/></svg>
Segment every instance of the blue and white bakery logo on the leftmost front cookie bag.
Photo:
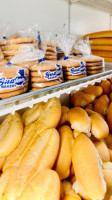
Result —
<svg viewBox="0 0 112 200"><path fill-rule="evenodd" d="M28 81L27 76L25 76L24 69L18 71L18 76L14 78L0 78L0 88L16 88L17 86L24 85L25 81Z"/></svg>

